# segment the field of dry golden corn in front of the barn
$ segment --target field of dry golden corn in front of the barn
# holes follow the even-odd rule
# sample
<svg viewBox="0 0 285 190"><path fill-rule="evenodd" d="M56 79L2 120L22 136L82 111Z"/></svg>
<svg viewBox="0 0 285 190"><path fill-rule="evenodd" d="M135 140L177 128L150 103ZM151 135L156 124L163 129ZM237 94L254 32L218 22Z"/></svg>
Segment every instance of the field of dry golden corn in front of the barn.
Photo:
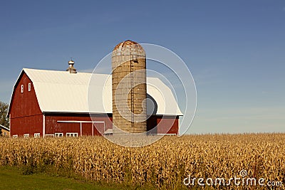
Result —
<svg viewBox="0 0 285 190"><path fill-rule="evenodd" d="M107 183L155 189L284 189L285 184L285 134L168 136L138 148L120 147L103 137L0 138L0 143L2 166L50 166ZM206 184L208 178L242 179L241 171L245 179L263 178L265 185ZM204 186L197 180L185 184L189 176L191 182L203 178Z"/></svg>

